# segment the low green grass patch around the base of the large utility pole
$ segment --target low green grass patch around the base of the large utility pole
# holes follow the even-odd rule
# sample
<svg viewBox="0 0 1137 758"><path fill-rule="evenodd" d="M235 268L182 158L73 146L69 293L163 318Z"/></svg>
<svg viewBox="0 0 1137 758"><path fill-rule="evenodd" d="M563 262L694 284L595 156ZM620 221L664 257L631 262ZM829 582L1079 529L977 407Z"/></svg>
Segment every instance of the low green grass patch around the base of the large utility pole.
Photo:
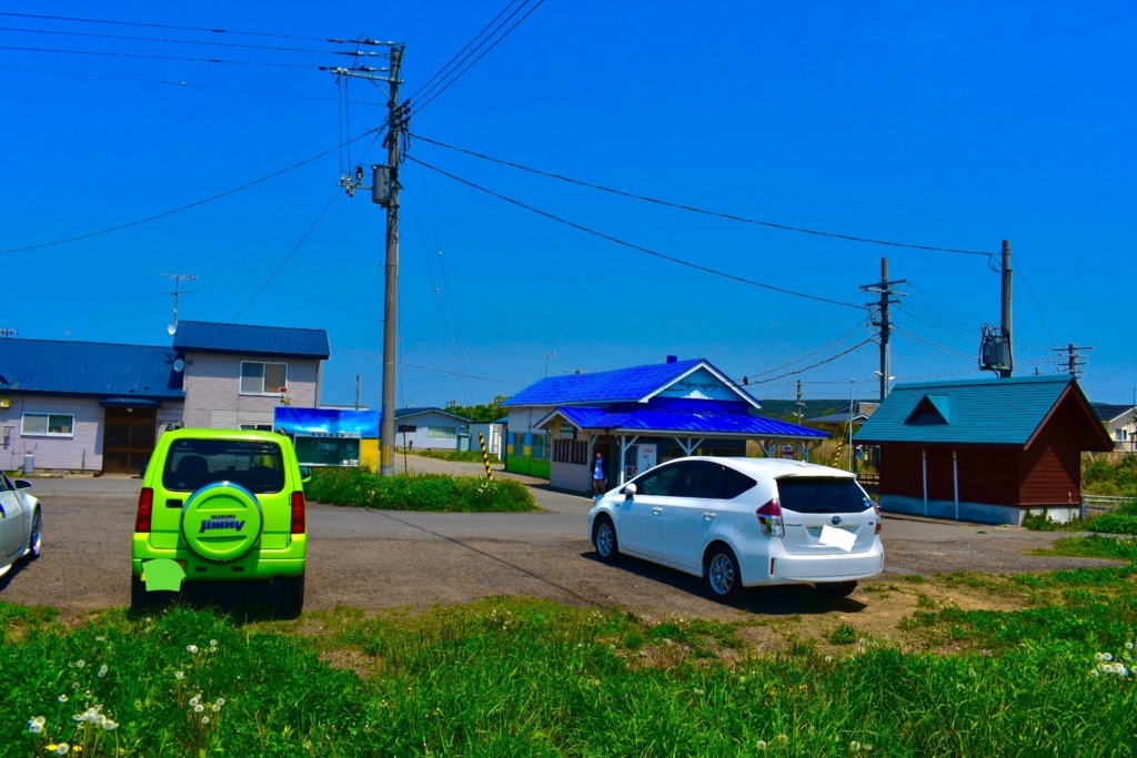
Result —
<svg viewBox="0 0 1137 758"><path fill-rule="evenodd" d="M515 480L413 474L380 476L365 468L317 468L305 495L315 502L380 510L524 513L540 510Z"/></svg>

